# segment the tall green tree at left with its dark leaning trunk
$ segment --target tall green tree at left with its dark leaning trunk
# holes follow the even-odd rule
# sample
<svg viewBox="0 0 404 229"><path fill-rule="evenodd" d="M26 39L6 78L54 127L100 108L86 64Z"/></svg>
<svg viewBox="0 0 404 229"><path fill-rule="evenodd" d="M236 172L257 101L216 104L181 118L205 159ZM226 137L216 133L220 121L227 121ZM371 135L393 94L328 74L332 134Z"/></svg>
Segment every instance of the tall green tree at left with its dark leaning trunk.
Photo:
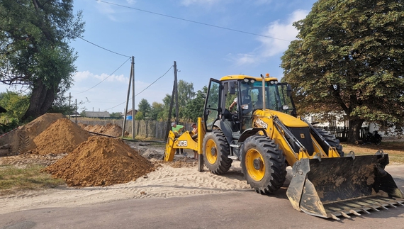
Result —
<svg viewBox="0 0 404 229"><path fill-rule="evenodd" d="M72 0L0 1L0 82L30 89L26 118L45 113L69 88L77 55L69 40L84 32Z"/></svg>

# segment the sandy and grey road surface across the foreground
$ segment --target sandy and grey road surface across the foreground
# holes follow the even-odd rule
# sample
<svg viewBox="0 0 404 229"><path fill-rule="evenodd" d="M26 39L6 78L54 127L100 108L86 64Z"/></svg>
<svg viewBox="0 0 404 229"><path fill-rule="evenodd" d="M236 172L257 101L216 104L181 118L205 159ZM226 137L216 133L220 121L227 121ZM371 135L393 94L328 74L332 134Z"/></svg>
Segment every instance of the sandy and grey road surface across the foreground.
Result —
<svg viewBox="0 0 404 229"><path fill-rule="evenodd" d="M386 170L404 190L404 165ZM162 167L108 187L43 191L0 199L0 228L403 228L404 207L340 221L298 212L286 189L262 196L237 165L225 176ZM30 210L26 210L30 209Z"/></svg>

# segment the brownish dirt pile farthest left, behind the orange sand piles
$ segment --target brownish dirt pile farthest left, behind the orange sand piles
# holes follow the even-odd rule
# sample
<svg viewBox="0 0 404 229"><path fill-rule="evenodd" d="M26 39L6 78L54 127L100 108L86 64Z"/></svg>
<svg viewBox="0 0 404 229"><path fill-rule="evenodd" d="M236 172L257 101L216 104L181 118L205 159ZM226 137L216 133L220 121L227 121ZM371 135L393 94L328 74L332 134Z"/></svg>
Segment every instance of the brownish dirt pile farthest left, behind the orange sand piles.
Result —
<svg viewBox="0 0 404 229"><path fill-rule="evenodd" d="M45 113L43 116L1 137L0 146L7 145L6 150L9 152L6 155L20 155L29 152L35 148L34 138L60 118L65 118L62 113Z"/></svg>

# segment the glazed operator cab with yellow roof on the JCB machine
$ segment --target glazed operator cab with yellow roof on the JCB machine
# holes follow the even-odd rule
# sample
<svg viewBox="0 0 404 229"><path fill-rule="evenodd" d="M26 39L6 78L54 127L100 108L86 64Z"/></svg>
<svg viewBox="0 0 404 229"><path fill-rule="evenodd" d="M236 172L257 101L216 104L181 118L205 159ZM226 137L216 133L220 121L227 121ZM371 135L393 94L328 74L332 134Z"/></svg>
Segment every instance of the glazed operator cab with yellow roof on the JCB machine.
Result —
<svg viewBox="0 0 404 229"><path fill-rule="evenodd" d="M206 130L213 130L216 121L220 120L230 125L232 138L238 139L237 135L252 127L252 115L257 109L271 109L296 116L291 86L269 75L264 80L262 86L261 77L229 75L220 80L211 79L204 108ZM237 105L230 110L234 102Z"/></svg>

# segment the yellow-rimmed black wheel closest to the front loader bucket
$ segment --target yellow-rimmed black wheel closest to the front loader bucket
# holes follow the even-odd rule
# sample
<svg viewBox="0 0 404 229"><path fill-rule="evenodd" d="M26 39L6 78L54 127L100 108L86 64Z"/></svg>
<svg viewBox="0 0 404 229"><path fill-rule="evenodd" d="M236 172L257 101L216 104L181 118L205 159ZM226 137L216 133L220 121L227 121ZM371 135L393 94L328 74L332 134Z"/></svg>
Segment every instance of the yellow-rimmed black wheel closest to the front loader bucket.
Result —
<svg viewBox="0 0 404 229"><path fill-rule="evenodd" d="M271 140L253 135L242 145L241 167L247 184L259 194L272 194L286 179L285 157Z"/></svg>

